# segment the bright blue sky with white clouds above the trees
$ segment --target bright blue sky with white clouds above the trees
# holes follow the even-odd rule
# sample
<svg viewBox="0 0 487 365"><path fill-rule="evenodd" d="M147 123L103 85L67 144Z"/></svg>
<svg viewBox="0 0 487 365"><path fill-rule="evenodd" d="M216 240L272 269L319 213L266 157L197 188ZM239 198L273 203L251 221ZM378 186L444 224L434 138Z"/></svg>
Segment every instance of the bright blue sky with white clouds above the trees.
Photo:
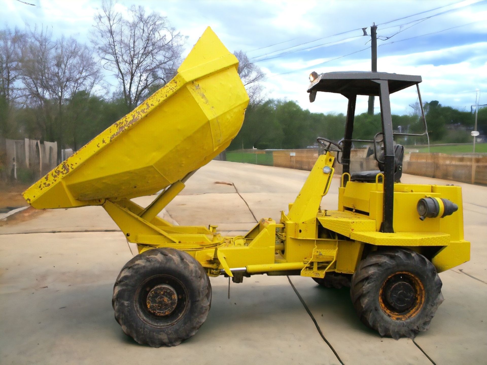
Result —
<svg viewBox="0 0 487 365"><path fill-rule="evenodd" d="M35 6L0 0L2 26L42 24L54 35L83 43L89 42L101 6L93 0L25 2ZM346 112L341 95L319 93L309 103L308 76L311 71L371 70L373 23L378 26L378 71L421 75L423 102L470 110L480 94L479 104L487 104L487 0L140 0L117 1L116 9L123 14L131 5L167 17L187 36L185 55L210 26L228 50L243 50L265 72L268 98L294 100L312 112ZM392 111L410 113L416 101L415 88L399 91L391 96ZM366 110L367 97L359 97L356 112Z"/></svg>

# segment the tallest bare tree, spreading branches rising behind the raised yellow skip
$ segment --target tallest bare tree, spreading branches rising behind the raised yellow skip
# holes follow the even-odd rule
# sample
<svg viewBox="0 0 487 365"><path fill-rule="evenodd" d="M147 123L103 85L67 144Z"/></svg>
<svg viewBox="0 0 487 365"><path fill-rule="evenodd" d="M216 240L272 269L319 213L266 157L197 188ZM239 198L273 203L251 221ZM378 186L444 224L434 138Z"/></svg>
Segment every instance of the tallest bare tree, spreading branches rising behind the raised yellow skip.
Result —
<svg viewBox="0 0 487 365"><path fill-rule="evenodd" d="M165 85L181 63L186 37L166 17L131 6L128 18L104 1L94 17L92 41L103 67L113 72L129 110L155 85Z"/></svg>

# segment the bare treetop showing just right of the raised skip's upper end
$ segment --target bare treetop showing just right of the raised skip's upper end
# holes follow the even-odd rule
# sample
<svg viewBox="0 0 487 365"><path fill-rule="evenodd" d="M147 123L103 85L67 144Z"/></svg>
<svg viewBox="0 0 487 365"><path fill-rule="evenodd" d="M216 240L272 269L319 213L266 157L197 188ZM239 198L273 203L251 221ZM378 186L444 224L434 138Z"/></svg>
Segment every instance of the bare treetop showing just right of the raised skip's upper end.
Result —
<svg viewBox="0 0 487 365"><path fill-rule="evenodd" d="M264 87L261 82L265 79L265 74L259 66L250 62L247 55L243 51L233 52L235 57L239 60L238 73L250 98L250 105L259 105L265 100L263 94Z"/></svg>

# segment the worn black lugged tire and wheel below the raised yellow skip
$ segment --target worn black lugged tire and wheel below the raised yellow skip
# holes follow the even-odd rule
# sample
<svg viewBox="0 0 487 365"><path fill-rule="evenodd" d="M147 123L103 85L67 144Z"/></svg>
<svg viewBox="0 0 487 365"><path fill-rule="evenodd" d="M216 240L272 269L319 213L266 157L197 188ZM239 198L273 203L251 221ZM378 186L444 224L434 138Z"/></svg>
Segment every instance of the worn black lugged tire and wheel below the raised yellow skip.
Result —
<svg viewBox="0 0 487 365"><path fill-rule="evenodd" d="M154 248L125 264L112 305L122 330L139 344L176 346L205 322L211 284L201 264L183 251Z"/></svg>

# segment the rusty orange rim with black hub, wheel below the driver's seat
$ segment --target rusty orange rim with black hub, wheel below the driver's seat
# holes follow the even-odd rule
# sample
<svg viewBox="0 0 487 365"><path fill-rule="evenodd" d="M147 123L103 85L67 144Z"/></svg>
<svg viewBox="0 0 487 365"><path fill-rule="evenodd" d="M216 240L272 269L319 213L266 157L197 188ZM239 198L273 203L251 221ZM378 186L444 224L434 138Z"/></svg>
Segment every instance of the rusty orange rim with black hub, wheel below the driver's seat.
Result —
<svg viewBox="0 0 487 365"><path fill-rule="evenodd" d="M396 272L386 278L380 287L380 308L394 320L403 321L413 317L424 301L423 283L410 272Z"/></svg>

